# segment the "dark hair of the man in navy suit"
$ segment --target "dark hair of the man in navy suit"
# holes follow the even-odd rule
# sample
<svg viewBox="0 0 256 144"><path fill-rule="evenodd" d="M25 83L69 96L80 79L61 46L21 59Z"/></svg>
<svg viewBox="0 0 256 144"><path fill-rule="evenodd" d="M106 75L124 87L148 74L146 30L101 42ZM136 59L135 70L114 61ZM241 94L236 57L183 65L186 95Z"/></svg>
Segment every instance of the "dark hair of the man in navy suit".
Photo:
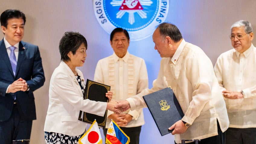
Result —
<svg viewBox="0 0 256 144"><path fill-rule="evenodd" d="M24 24L26 22L26 17L23 12L17 9L8 9L5 10L0 16L1 26L7 27L7 21L11 18L22 18Z"/></svg>

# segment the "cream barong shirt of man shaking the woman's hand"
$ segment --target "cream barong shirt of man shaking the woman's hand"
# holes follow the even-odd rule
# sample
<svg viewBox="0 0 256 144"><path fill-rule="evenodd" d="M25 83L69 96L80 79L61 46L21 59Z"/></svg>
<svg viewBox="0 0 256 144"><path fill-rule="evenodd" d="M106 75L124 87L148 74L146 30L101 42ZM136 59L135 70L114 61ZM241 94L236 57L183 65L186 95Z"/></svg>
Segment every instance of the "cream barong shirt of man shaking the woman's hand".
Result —
<svg viewBox="0 0 256 144"><path fill-rule="evenodd" d="M212 62L198 46L182 40L173 57L162 58L153 87L126 100L132 110L146 107L142 96L168 86L171 86L185 114L182 120L192 124L185 133L174 135L175 142L218 135L217 119L222 132L227 130L229 120L225 101Z"/></svg>

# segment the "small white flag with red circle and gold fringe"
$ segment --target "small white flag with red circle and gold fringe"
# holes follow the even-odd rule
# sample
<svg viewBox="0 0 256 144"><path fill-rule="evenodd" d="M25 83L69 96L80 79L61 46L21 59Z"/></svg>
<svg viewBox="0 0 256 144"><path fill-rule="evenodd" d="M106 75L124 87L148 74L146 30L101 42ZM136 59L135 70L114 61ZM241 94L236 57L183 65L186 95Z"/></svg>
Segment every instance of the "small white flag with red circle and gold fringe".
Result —
<svg viewBox="0 0 256 144"><path fill-rule="evenodd" d="M96 120L89 130L78 140L79 144L102 144L101 133Z"/></svg>

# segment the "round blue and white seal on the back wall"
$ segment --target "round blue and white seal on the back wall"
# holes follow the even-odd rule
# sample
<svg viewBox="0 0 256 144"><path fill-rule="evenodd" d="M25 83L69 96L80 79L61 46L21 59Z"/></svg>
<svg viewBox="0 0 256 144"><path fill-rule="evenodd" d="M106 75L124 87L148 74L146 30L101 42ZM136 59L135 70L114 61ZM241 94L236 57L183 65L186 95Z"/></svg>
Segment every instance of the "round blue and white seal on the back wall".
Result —
<svg viewBox="0 0 256 144"><path fill-rule="evenodd" d="M107 33L121 27L136 41L149 37L155 26L165 21L169 0L93 0L93 7Z"/></svg>

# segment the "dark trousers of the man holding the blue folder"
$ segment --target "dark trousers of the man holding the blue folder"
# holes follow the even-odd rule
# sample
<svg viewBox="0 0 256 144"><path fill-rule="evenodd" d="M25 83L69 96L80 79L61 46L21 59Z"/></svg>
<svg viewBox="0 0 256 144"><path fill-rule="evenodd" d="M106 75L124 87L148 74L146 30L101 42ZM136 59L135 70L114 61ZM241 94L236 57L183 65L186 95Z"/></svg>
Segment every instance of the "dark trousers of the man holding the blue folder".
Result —
<svg viewBox="0 0 256 144"><path fill-rule="evenodd" d="M222 133L218 121L217 121L217 125L218 125L217 126L218 127L218 135L208 137L205 139L201 139L201 141L199 141L198 144L226 144L226 134L225 134L225 132ZM177 143L175 142L175 144L177 144ZM191 142L189 144L195 144L195 142ZM229 144L229 143L227 143L227 144Z"/></svg>

